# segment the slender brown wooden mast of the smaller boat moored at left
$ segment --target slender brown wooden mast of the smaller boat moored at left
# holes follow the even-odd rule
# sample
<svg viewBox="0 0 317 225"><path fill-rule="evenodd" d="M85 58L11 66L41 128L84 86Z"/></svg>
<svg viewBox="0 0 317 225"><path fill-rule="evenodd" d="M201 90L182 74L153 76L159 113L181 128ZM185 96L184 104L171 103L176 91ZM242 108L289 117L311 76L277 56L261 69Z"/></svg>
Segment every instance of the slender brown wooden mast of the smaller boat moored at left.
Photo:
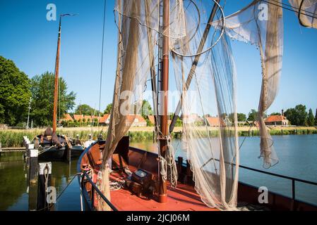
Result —
<svg viewBox="0 0 317 225"><path fill-rule="evenodd" d="M59 95L59 53L61 51L61 16L59 17L59 38L57 40L56 62L55 62L55 86L54 86L54 110L53 110L53 133L56 132L57 123L57 98Z"/></svg>

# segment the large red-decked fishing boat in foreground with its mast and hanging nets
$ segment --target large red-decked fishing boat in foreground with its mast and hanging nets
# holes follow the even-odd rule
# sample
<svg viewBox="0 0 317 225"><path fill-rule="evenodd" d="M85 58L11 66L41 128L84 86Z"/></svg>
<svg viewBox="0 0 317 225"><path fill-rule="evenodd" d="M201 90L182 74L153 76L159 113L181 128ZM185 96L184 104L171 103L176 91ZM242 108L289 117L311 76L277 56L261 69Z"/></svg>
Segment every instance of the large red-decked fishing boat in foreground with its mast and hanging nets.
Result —
<svg viewBox="0 0 317 225"><path fill-rule="evenodd" d="M236 75L229 38L254 44L260 51L260 154L263 167L269 168L278 158L263 113L277 94L282 67L281 1L265 1L267 20L258 18L259 0L227 17L220 0L211 2L213 6L190 0L116 1L119 37L112 117L107 139L92 143L78 160L82 210L317 210L297 200L294 192L296 182L316 183L239 165ZM169 55L179 89L170 125ZM128 120L140 109L148 75L155 153L129 146L125 136L131 126ZM196 91L196 105L189 91ZM219 120L215 136L205 123L193 120L195 113L213 110ZM170 134L180 112L186 159L176 160ZM291 180L292 198L268 191L267 201L260 202L258 187L239 182L239 168Z"/></svg>

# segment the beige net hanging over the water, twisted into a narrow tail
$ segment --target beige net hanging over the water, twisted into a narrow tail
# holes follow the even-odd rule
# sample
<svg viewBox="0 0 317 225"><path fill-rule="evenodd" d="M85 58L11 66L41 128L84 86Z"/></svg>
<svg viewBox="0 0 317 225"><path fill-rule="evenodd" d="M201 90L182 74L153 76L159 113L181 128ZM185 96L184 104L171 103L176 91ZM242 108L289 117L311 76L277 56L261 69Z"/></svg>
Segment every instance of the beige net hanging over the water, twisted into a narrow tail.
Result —
<svg viewBox="0 0 317 225"><path fill-rule="evenodd" d="M264 122L264 113L277 95L282 71L282 8L276 6L276 3L281 3L281 0L255 0L225 19L225 31L231 39L253 44L260 51L263 78L258 106L258 126L261 134L261 157L265 168L278 162L273 139ZM213 25L219 23L220 21L217 21Z"/></svg>

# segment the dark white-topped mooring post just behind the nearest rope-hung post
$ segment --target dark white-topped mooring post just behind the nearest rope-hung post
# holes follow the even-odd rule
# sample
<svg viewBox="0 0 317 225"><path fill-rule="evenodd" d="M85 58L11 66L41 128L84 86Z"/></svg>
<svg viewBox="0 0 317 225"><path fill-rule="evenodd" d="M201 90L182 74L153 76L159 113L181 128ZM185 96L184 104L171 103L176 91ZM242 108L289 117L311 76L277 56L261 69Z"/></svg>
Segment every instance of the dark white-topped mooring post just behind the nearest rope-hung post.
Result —
<svg viewBox="0 0 317 225"><path fill-rule="evenodd" d="M30 168L28 172L28 190L29 190L29 211L37 210L37 178L38 165L37 158L39 151L37 149L29 149L30 153Z"/></svg>

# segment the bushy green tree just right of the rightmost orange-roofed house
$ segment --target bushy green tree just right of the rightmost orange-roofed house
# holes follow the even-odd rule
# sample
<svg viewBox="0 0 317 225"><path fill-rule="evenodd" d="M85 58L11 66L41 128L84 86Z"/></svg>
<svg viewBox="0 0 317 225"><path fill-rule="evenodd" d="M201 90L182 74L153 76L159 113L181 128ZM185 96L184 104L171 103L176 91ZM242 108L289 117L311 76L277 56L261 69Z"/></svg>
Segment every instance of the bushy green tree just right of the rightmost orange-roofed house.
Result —
<svg viewBox="0 0 317 225"><path fill-rule="evenodd" d="M292 125L306 126L307 112L305 105L296 105L295 108L287 109L284 114Z"/></svg>

